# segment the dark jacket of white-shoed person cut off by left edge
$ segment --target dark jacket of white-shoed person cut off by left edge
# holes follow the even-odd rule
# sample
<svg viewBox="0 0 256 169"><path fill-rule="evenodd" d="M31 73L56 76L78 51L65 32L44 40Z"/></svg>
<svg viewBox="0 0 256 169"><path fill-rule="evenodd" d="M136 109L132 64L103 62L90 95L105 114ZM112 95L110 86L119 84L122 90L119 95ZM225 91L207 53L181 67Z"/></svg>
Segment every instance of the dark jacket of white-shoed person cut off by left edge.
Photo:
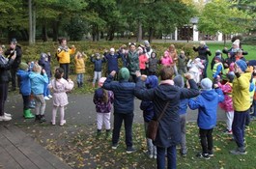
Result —
<svg viewBox="0 0 256 169"><path fill-rule="evenodd" d="M11 80L10 69L13 64L14 64L14 60L11 58L9 59L9 62L6 61L6 63L4 63L0 59L0 83L10 82L10 80Z"/></svg>

